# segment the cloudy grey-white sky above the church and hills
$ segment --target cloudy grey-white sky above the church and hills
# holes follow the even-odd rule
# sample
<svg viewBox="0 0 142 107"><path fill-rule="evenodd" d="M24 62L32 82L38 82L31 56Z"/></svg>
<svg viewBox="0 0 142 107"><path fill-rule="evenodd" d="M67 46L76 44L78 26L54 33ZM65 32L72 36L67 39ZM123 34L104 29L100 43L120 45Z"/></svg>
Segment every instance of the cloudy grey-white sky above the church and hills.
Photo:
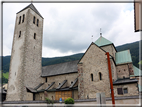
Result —
<svg viewBox="0 0 142 107"><path fill-rule="evenodd" d="M44 17L43 57L85 52L93 41L103 37L115 46L140 40L134 32L132 3L33 3ZM10 55L16 13L29 3L3 4L3 55Z"/></svg>

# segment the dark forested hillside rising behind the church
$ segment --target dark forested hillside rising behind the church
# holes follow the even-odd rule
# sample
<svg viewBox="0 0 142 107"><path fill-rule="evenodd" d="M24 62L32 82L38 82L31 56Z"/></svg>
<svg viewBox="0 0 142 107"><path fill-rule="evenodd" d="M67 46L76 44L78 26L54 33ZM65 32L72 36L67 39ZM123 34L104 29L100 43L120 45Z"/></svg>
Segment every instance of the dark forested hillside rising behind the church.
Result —
<svg viewBox="0 0 142 107"><path fill-rule="evenodd" d="M129 49L132 55L133 64L139 66L139 42L134 42L130 44L125 44L116 47L117 51L123 51ZM71 56L64 57L54 57L54 58L42 58L42 66L58 64L73 60L79 60L84 53L74 54ZM0 57L2 58L2 71L3 71L3 83L7 83L9 65L10 65L10 56Z"/></svg>

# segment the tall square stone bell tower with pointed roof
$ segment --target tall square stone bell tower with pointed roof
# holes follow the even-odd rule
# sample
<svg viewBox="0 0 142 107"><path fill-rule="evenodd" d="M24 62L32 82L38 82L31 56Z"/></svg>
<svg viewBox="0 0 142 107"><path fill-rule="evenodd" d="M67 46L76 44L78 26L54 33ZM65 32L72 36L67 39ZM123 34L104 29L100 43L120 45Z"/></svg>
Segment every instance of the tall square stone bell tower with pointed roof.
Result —
<svg viewBox="0 0 142 107"><path fill-rule="evenodd" d="M43 17L31 3L16 15L6 101L27 100L41 83Z"/></svg>

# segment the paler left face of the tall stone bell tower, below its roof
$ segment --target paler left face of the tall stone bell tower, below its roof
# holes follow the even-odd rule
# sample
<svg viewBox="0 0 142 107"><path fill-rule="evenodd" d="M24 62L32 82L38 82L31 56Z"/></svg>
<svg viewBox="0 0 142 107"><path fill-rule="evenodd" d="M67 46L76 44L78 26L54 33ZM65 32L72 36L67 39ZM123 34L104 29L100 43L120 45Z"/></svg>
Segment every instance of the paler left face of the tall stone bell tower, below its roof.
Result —
<svg viewBox="0 0 142 107"><path fill-rule="evenodd" d="M25 14L25 22L19 24L19 17ZM28 17L28 10L24 10L16 15L14 37L11 51L7 101L20 101L22 100L22 88L24 81L23 63L24 63L24 44L26 35L26 20ZM19 38L19 32L21 37Z"/></svg>

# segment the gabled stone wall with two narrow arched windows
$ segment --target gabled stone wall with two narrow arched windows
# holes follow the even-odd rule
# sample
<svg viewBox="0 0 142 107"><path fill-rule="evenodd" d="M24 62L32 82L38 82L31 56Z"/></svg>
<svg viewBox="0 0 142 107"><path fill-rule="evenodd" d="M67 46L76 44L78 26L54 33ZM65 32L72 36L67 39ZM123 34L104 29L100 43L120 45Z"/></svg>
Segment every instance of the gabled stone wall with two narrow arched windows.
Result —
<svg viewBox="0 0 142 107"><path fill-rule="evenodd" d="M102 80L99 73L102 74ZM106 97L110 97L107 56L94 44L90 45L78 64L78 80L79 99L96 98L98 92L104 92Z"/></svg>

